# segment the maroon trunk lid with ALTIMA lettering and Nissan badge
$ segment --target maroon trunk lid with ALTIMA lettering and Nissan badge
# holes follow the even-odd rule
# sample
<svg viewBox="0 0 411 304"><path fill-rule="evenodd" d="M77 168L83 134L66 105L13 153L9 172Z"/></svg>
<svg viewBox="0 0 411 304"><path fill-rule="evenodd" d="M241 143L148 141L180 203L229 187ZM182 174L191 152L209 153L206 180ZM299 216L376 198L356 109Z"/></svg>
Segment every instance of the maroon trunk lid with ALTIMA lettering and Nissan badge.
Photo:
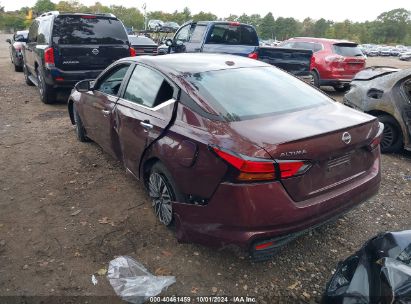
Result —
<svg viewBox="0 0 411 304"><path fill-rule="evenodd" d="M231 126L275 160L311 163L303 175L282 180L297 202L341 187L369 170L374 156L367 147L379 129L376 118L339 104Z"/></svg>

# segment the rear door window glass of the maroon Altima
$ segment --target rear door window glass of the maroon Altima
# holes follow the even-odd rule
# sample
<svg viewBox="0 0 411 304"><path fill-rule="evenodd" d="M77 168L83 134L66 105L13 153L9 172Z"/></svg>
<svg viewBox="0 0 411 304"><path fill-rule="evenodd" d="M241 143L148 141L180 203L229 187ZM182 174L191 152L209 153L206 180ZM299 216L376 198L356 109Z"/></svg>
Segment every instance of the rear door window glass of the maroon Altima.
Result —
<svg viewBox="0 0 411 304"><path fill-rule="evenodd" d="M123 98L152 108L173 98L173 91L161 74L138 65L130 77Z"/></svg>

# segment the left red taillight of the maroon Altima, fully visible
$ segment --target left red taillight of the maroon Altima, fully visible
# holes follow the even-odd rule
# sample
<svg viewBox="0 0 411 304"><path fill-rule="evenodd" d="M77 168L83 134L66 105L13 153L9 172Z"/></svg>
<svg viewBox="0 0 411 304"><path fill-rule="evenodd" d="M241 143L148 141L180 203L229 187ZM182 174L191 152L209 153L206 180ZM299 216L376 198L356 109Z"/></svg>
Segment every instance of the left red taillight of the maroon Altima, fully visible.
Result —
<svg viewBox="0 0 411 304"><path fill-rule="evenodd" d="M238 170L237 181L265 181L284 179L305 173L311 166L300 160L278 160L250 158L221 148L212 147L213 151L228 164Z"/></svg>

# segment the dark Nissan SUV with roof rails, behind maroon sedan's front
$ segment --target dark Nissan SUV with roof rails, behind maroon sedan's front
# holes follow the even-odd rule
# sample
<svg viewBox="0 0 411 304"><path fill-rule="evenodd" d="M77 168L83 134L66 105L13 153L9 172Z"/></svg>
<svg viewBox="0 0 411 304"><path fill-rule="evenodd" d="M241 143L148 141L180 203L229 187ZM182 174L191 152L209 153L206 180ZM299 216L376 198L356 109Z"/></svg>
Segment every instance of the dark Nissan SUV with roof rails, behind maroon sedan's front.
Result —
<svg viewBox="0 0 411 304"><path fill-rule="evenodd" d="M124 25L112 14L44 13L31 24L24 77L52 103L57 88L94 79L117 59L134 56Z"/></svg>

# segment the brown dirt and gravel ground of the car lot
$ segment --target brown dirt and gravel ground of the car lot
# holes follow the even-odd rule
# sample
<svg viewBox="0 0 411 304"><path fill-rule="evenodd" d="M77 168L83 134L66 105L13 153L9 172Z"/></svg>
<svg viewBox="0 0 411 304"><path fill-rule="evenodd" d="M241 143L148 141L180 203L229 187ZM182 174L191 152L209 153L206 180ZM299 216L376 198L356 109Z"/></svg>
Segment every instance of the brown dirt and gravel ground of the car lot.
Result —
<svg viewBox="0 0 411 304"><path fill-rule="evenodd" d="M104 276L91 282L119 255L175 276L163 295L191 296L192 303L198 295L317 302L338 261L379 232L410 229L411 153L404 151L383 156L377 196L271 261L179 244L156 221L142 185L98 146L76 140L64 96L44 105L36 87L13 71L5 38L0 35L0 303L13 296L26 296L18 303L63 303L67 296L96 296L70 303L121 303ZM368 62L411 67L395 58Z"/></svg>

